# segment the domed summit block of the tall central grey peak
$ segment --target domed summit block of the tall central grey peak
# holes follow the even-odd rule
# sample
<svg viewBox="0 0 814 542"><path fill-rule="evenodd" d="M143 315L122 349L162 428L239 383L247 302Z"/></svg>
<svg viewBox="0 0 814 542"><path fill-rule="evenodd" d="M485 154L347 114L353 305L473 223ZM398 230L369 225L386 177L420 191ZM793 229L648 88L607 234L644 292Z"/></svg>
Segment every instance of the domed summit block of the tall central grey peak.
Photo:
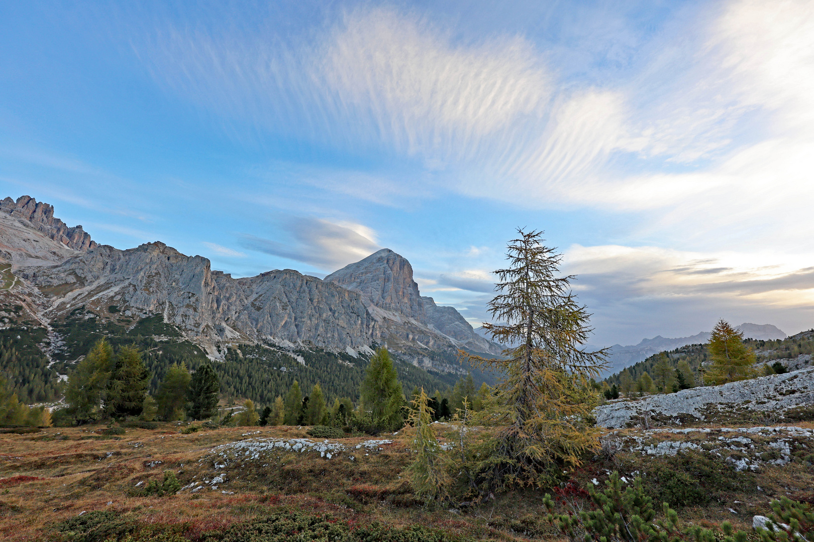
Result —
<svg viewBox="0 0 814 542"><path fill-rule="evenodd" d="M326 282L360 292L384 310L421 320L424 310L413 266L391 249L381 249L325 277Z"/></svg>

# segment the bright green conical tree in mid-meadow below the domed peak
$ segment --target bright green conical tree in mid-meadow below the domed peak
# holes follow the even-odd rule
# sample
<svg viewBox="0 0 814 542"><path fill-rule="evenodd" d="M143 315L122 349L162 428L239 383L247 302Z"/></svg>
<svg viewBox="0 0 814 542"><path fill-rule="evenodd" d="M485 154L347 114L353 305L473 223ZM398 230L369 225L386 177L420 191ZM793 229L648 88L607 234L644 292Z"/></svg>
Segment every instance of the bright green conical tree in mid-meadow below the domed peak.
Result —
<svg viewBox="0 0 814 542"><path fill-rule="evenodd" d="M404 423L400 411L404 395L396 367L386 348L378 349L370 357L361 384L361 402L378 426L395 429Z"/></svg>

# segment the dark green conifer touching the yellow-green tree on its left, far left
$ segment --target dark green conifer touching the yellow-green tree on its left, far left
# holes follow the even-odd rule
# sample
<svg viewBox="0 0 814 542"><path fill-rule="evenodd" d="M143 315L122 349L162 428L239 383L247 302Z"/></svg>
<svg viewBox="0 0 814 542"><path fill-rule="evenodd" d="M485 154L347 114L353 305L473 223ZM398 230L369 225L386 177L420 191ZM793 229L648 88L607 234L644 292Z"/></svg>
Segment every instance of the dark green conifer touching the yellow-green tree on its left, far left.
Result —
<svg viewBox="0 0 814 542"><path fill-rule="evenodd" d="M123 346L107 382L105 409L116 417L138 416L149 385L150 371L144 366L141 353L133 346Z"/></svg>

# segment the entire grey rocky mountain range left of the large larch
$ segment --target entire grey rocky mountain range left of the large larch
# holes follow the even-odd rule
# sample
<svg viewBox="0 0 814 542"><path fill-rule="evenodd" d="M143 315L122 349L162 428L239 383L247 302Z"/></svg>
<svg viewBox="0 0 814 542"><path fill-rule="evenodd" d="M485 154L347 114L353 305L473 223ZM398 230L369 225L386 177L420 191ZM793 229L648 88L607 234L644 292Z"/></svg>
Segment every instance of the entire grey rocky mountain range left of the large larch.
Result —
<svg viewBox="0 0 814 542"><path fill-rule="evenodd" d="M352 355L387 345L414 365L461 372L449 362L458 348L500 352L453 307L423 297L410 263L390 249L325 280L291 269L234 279L160 241L126 250L97 245L81 226L56 219L53 206L24 196L0 202L2 262L18 281L0 301L24 307L24 319L48 329L54 345L60 339L50 324L77 314L130 327L160 315L212 359L240 344Z"/></svg>

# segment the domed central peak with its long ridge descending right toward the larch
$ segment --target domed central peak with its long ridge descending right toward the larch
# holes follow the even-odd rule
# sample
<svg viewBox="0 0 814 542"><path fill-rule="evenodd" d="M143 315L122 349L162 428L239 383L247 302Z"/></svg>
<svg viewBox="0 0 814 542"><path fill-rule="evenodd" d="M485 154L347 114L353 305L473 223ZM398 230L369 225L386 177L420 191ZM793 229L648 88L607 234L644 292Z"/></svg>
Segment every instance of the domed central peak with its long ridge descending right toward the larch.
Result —
<svg viewBox="0 0 814 542"><path fill-rule="evenodd" d="M500 348L475 333L454 307L437 306L432 297L422 297L413 280L413 267L391 249L381 249L351 263L326 276L325 281L361 293L365 305L392 335L405 337L418 333L433 342L431 336L440 333L454 345L500 353ZM406 317L406 321L394 315Z"/></svg>

